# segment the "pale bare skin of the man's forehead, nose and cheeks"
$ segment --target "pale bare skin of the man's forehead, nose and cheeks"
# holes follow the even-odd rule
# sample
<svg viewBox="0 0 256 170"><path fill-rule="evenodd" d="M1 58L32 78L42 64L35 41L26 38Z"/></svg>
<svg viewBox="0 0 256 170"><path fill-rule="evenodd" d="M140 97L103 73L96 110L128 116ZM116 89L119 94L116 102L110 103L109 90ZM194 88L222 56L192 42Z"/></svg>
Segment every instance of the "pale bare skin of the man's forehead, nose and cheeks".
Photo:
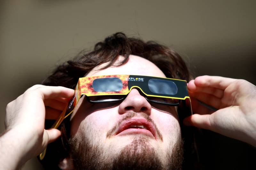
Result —
<svg viewBox="0 0 256 170"><path fill-rule="evenodd" d="M120 56L119 61L122 60L123 57ZM114 65L119 61L116 61ZM140 63L143 63L143 65ZM135 55L130 55L129 60L121 66L112 66L104 70L99 70L103 66L104 64L95 67L86 76L129 74L165 77L164 73L154 63ZM125 100L111 108L103 107L103 109L99 109L100 104L92 106L86 99L83 100L83 104L81 102L80 104L79 106L78 102L79 110L75 110L71 116L71 136L80 139L86 134L86 130L93 132L86 134L86 136L92 139L90 140L92 145L98 145L101 148L102 155L106 155L102 158L103 160L114 160L122 151L122 148L132 144L133 140L139 136L147 137L149 147L155 150L160 160L165 160L167 155L172 153L172 148L179 141L179 138L181 138L180 125L175 107L151 105L140 94L139 89L132 89ZM106 105L104 106L106 107ZM160 135L153 137L151 133L146 135L142 131L137 131L138 129L130 129L131 131L126 131L126 133L120 133L118 135L116 135L116 129L108 134L119 121L122 121L124 117L131 113L134 116L131 117L130 121L145 121L146 117L150 118L155 123L154 129L158 129L162 137ZM61 169L74 168L73 166L69 166L72 165L73 161L73 158L70 158L72 158L72 155L64 160L66 164L62 161ZM166 163L163 161L163 164Z"/></svg>

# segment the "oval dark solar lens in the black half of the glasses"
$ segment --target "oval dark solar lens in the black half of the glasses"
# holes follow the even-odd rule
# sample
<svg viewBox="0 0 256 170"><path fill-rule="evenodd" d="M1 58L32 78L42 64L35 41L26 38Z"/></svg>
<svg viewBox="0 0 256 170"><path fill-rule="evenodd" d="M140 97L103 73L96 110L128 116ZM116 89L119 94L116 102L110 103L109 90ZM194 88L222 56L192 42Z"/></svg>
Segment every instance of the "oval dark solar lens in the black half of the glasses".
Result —
<svg viewBox="0 0 256 170"><path fill-rule="evenodd" d="M168 80L150 79L148 88L153 93L174 95L178 92L177 85Z"/></svg>

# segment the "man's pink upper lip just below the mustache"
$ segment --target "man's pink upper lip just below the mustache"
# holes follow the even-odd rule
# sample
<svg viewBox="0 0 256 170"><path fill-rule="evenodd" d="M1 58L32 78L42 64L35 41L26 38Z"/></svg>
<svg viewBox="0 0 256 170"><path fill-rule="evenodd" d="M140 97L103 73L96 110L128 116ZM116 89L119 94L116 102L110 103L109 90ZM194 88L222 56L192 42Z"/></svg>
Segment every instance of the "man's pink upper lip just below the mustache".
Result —
<svg viewBox="0 0 256 170"><path fill-rule="evenodd" d="M118 127L115 135L121 133L122 131L124 131L126 129L130 129L131 125L143 125L144 127L147 128L147 130L149 130L152 133L152 135L155 137L155 139L157 139L156 129L155 129L153 123L147 121L145 118L131 118L131 119L123 121L120 124L120 126Z"/></svg>

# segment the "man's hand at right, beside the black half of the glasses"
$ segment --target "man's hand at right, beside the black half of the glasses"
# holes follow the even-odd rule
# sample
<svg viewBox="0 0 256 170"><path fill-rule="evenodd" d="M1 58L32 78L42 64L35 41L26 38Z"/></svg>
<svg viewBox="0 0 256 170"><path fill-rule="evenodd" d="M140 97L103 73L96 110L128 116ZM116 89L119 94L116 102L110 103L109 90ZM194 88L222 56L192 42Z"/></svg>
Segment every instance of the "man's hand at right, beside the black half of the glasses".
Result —
<svg viewBox="0 0 256 170"><path fill-rule="evenodd" d="M209 129L256 147L256 86L246 80L201 76L188 83L194 115L184 124ZM200 100L217 111L200 105Z"/></svg>

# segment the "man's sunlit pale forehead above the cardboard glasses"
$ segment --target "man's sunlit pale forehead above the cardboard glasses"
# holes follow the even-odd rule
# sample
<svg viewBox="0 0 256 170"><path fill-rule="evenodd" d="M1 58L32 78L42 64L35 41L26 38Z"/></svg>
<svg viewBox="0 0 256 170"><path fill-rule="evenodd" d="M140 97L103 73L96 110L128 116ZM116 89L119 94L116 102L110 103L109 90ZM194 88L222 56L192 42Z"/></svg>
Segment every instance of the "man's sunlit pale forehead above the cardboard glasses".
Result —
<svg viewBox="0 0 256 170"><path fill-rule="evenodd" d="M119 56L118 60L114 63L114 65L118 64L118 62L122 61L123 59L123 56ZM121 66L111 66L107 69L99 70L107 64L108 63L104 63L95 67L86 75L86 77L115 74L165 77L164 73L154 63L136 55L130 55L128 61Z"/></svg>

